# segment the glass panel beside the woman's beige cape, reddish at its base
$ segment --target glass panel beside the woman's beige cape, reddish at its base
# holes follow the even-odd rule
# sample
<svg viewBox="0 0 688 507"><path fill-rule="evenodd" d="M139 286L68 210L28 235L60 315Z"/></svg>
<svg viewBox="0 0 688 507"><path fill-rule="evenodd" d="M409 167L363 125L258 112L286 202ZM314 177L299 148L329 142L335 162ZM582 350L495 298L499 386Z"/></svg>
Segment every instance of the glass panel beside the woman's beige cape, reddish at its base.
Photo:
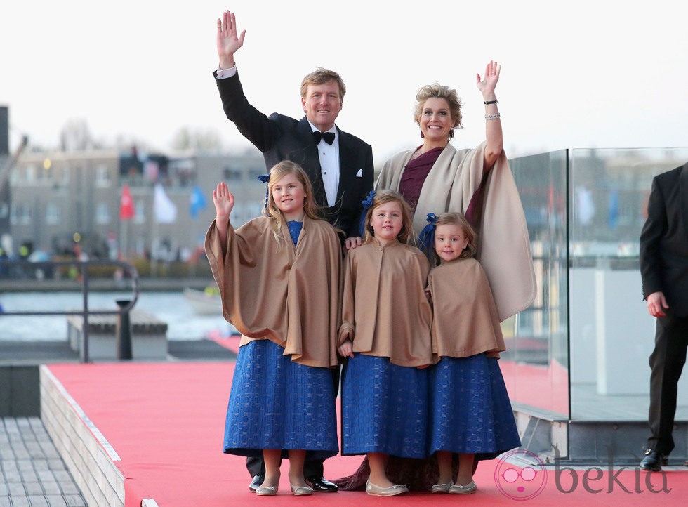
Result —
<svg viewBox="0 0 688 507"><path fill-rule="evenodd" d="M503 322L500 360L512 403L556 419L569 416L565 150L510 161L528 223L537 296Z"/></svg>

